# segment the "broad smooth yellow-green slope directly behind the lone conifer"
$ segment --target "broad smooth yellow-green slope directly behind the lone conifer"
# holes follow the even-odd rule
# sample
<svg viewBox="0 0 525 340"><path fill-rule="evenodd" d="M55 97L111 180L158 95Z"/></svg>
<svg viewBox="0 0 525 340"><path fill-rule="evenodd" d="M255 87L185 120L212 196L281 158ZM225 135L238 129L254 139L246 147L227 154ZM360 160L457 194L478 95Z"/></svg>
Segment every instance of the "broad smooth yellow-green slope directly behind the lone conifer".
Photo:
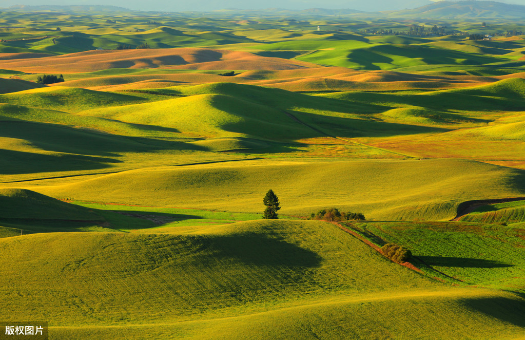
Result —
<svg viewBox="0 0 525 340"><path fill-rule="evenodd" d="M385 220L451 219L460 202L520 197L525 190L520 170L459 159L243 161L35 184L24 187L87 201L243 212L260 212L261 197L271 188L283 214L306 216L337 206Z"/></svg>

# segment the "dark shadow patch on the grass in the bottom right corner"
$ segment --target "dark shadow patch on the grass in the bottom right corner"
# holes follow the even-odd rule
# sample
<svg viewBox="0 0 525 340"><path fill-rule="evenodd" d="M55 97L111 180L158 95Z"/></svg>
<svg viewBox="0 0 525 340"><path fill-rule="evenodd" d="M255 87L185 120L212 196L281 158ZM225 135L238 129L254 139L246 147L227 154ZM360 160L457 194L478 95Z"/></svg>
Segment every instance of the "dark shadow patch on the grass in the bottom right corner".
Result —
<svg viewBox="0 0 525 340"><path fill-rule="evenodd" d="M466 299L463 303L469 308L500 321L525 327L525 300L523 298L473 298Z"/></svg>

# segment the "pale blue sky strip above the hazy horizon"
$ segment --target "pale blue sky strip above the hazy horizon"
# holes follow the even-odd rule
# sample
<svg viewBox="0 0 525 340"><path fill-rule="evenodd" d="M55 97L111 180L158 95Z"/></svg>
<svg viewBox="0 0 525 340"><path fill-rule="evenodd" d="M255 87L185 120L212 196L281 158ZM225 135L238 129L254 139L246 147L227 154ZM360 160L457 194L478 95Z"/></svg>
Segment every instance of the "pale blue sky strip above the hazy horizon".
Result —
<svg viewBox="0 0 525 340"><path fill-rule="evenodd" d="M0 7L13 5L113 5L139 11L182 12L215 11L225 8L350 8L359 11L391 11L416 8L437 0L0 0ZM500 0L500 2L525 5L525 0Z"/></svg>

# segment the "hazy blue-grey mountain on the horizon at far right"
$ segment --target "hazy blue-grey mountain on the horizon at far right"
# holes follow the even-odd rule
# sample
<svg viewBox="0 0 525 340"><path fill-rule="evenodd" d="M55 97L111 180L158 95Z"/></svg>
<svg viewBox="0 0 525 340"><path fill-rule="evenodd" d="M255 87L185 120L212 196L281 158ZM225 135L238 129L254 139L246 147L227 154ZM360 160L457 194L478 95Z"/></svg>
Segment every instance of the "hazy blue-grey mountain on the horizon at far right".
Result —
<svg viewBox="0 0 525 340"><path fill-rule="evenodd" d="M412 18L525 18L525 6L495 1L440 1L415 9L387 14L389 17Z"/></svg>

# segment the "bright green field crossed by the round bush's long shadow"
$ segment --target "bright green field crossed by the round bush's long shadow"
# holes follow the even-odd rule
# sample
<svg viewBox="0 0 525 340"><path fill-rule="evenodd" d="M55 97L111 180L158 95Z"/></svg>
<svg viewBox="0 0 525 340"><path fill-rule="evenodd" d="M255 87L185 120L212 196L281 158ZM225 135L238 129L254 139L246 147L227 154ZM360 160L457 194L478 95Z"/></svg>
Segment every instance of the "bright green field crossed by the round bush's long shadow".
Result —
<svg viewBox="0 0 525 340"><path fill-rule="evenodd" d="M488 223L374 222L354 228L372 242L406 246L427 275L457 285L525 292L525 230Z"/></svg>

